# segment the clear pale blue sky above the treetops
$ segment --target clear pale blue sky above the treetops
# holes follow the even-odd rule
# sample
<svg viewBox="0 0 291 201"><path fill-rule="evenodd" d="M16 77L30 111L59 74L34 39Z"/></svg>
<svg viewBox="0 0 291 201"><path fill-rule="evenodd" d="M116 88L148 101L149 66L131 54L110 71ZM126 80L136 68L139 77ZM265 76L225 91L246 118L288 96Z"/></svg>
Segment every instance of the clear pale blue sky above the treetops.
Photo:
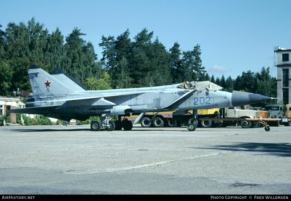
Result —
<svg viewBox="0 0 291 201"><path fill-rule="evenodd" d="M291 1L7 1L0 0L2 30L9 22L27 22L32 17L52 33L58 27L68 36L78 27L87 34L98 59L104 36L119 36L129 29L130 38L146 28L152 41L169 50L175 42L181 51L200 44L202 66L212 76L235 79L243 71L274 67L274 47L291 49ZM275 59L276 60L276 59Z"/></svg>

